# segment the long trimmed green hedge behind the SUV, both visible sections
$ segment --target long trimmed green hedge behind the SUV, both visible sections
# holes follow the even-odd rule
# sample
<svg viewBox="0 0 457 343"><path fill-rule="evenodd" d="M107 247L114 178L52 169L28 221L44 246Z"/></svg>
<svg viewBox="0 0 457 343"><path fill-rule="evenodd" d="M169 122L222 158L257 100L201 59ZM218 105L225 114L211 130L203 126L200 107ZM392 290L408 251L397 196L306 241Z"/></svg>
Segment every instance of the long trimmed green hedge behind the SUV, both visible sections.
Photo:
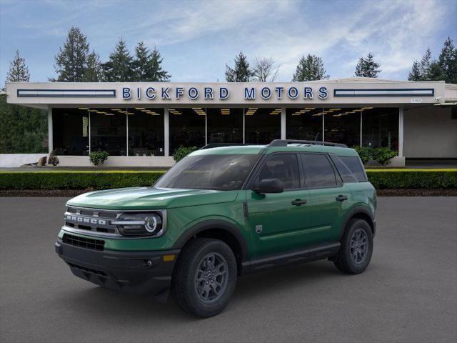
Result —
<svg viewBox="0 0 457 343"><path fill-rule="evenodd" d="M0 172L0 189L111 189L151 186L162 171ZM376 189L457 188L457 169L369 169Z"/></svg>

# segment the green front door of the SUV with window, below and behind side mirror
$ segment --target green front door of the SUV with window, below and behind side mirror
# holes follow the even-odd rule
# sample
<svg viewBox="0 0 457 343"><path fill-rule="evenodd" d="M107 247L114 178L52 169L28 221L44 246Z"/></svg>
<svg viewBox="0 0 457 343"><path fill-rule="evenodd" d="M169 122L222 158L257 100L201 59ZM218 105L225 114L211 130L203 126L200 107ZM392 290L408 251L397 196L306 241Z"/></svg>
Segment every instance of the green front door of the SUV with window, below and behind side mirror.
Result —
<svg viewBox="0 0 457 343"><path fill-rule="evenodd" d="M251 258L303 247L309 227L309 191L303 189L297 154L268 156L254 174L253 185L262 179L280 179L284 192L258 194L246 191Z"/></svg>

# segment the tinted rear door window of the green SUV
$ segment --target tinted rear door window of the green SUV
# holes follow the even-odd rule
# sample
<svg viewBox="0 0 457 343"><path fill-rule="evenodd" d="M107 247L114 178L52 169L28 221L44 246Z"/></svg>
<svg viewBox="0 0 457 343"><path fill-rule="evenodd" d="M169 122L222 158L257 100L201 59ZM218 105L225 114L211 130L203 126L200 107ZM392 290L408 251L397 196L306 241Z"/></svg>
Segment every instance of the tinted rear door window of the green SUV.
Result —
<svg viewBox="0 0 457 343"><path fill-rule="evenodd" d="M336 187L336 176L326 155L302 154L303 166L306 168L307 188Z"/></svg>

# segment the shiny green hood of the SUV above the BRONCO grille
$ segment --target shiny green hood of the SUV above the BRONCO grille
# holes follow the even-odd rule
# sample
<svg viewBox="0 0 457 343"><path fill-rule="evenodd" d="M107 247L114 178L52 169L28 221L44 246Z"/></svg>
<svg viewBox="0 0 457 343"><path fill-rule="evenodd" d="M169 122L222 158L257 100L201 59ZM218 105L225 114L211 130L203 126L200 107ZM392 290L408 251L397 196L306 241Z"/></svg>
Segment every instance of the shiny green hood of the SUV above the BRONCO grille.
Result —
<svg viewBox="0 0 457 343"><path fill-rule="evenodd" d="M170 209L233 202L238 191L133 187L81 194L67 204L96 209Z"/></svg>

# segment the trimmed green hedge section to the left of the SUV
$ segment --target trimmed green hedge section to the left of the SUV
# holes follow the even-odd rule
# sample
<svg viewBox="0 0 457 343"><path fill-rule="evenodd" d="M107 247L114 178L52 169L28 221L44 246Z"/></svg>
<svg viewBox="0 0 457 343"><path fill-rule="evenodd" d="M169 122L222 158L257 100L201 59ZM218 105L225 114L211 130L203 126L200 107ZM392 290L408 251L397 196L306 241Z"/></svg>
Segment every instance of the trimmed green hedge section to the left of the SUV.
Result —
<svg viewBox="0 0 457 343"><path fill-rule="evenodd" d="M151 186L162 171L0 172L0 189L112 189Z"/></svg>

